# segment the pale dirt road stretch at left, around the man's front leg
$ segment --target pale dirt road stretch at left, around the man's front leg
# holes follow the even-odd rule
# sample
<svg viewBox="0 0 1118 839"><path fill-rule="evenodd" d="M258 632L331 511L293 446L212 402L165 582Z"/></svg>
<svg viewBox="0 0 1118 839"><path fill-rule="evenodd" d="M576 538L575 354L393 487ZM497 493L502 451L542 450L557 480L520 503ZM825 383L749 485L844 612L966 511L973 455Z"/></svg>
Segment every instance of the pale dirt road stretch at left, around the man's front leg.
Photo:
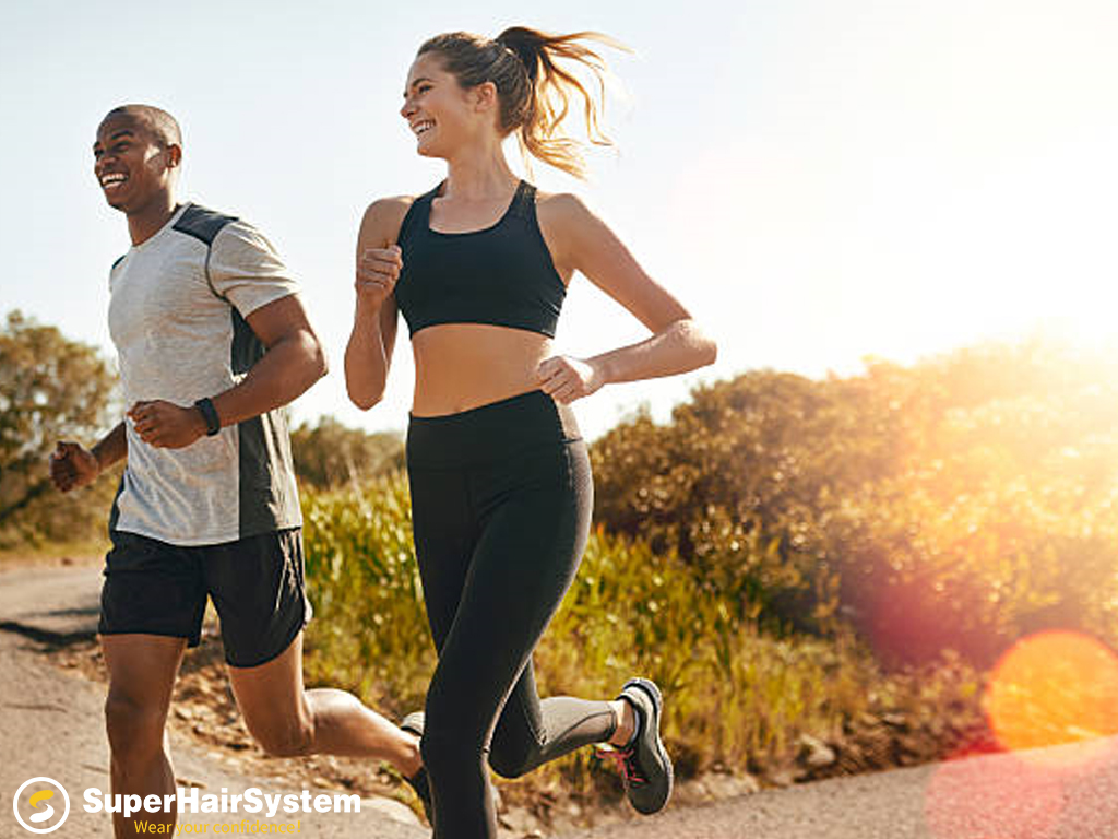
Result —
<svg viewBox="0 0 1118 839"><path fill-rule="evenodd" d="M100 593L97 568L22 567L0 574L0 839L30 837L16 820L12 796L25 781L45 776L57 781L69 795L65 823L58 839L110 837L108 817L85 812L87 789L108 792L108 744L102 706L104 687L53 667L44 656L51 644L93 638ZM235 763L217 751L208 751L172 730L171 752L180 785L199 788L199 795L243 794L256 786L266 793L301 793L271 786L260 779L240 774ZM30 791L31 788L29 788ZM347 793L345 790L310 791ZM29 794L29 792L28 792ZM21 795L25 818L28 794ZM57 794L55 799L60 798ZM59 808L60 812L60 808ZM299 828L313 839L420 839L429 831L419 826L408 808L388 799L364 799L361 812L299 813L275 818L266 814L187 813L183 826L214 835L241 824L243 819ZM51 819L48 824L55 823Z"/></svg>

